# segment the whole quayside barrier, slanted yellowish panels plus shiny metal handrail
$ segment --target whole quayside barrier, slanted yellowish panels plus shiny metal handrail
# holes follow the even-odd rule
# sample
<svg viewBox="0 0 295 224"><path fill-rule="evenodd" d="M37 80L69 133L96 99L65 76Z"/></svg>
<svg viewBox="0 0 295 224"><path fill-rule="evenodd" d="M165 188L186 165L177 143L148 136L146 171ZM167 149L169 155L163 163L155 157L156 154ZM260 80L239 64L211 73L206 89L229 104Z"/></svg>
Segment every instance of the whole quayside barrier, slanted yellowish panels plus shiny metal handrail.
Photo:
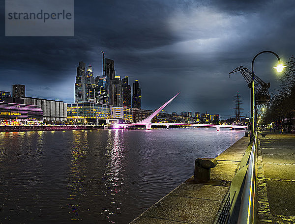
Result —
<svg viewBox="0 0 295 224"><path fill-rule="evenodd" d="M256 131L241 159L214 224L255 224L257 136Z"/></svg>

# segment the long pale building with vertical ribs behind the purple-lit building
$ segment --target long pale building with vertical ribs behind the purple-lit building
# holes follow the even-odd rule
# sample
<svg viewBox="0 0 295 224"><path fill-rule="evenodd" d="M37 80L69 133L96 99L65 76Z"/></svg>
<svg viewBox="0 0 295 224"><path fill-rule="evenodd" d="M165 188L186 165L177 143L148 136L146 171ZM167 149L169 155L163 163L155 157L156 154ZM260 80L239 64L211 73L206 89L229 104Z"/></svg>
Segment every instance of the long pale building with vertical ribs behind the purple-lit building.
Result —
<svg viewBox="0 0 295 224"><path fill-rule="evenodd" d="M24 104L37 105L43 110L45 122L65 122L67 117L67 103L58 100L47 100L24 97Z"/></svg>

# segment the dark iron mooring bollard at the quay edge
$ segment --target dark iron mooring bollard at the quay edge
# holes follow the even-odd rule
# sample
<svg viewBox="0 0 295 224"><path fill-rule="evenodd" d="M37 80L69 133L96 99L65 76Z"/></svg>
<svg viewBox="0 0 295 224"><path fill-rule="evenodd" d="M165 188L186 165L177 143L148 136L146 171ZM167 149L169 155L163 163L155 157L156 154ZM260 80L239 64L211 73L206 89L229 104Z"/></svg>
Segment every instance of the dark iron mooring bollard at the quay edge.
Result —
<svg viewBox="0 0 295 224"><path fill-rule="evenodd" d="M210 180L211 168L216 167L217 160L214 158L197 158L195 160L194 180L206 183Z"/></svg>

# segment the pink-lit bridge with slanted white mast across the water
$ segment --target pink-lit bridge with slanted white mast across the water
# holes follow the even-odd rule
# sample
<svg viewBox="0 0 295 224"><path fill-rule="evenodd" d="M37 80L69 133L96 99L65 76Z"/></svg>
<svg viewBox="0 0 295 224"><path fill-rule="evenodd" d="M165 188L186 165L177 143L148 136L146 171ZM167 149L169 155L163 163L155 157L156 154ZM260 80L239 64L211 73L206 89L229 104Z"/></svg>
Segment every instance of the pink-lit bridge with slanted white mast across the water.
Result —
<svg viewBox="0 0 295 224"><path fill-rule="evenodd" d="M221 125L221 124L187 124L187 123L153 123L151 122L151 119L156 116L160 111L163 110L180 92L178 92L174 97L172 97L170 100L168 100L165 104L163 104L159 109L157 109L155 112L150 114L146 119L141 120L136 123L131 124L111 124L111 125L105 125L107 127L113 127L113 128L124 128L127 127L134 127L134 126L146 126L147 130L151 129L151 126L166 126L169 128L169 126L185 126L185 127L210 127L210 128L216 128L217 131L220 131L220 128L234 128L234 129L245 129L247 126L241 126L241 125Z"/></svg>

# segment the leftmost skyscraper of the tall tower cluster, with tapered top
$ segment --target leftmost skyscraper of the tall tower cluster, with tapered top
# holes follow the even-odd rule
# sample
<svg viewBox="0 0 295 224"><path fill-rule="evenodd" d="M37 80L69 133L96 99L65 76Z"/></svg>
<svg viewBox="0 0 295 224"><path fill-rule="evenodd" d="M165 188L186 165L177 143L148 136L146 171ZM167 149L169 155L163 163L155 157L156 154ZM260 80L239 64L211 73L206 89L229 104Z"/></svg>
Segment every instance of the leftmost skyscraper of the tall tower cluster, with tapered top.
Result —
<svg viewBox="0 0 295 224"><path fill-rule="evenodd" d="M87 101L87 84L85 74L85 63L79 62L77 67L76 83L75 83L75 103Z"/></svg>

